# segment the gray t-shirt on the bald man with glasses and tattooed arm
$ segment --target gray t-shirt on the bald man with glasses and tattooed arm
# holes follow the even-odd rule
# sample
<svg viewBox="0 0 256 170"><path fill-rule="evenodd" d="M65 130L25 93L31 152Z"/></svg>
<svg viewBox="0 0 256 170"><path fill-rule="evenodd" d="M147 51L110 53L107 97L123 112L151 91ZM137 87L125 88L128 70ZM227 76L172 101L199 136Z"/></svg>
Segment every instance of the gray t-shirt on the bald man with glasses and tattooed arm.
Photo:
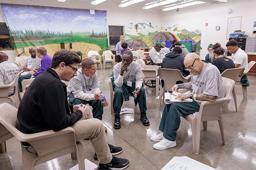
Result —
<svg viewBox="0 0 256 170"><path fill-rule="evenodd" d="M193 89L193 94L204 93L216 96L216 98L223 98L225 94L220 71L211 63L207 63L206 67L198 75L191 76L190 85ZM196 102L200 105L202 101L196 100Z"/></svg>

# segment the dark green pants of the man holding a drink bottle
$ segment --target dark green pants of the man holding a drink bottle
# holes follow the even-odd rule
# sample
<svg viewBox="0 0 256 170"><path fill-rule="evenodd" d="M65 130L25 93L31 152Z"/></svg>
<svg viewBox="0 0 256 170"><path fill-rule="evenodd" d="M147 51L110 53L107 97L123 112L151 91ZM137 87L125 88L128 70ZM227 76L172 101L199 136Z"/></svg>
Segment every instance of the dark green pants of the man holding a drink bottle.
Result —
<svg viewBox="0 0 256 170"><path fill-rule="evenodd" d="M101 104L100 100L90 100L90 101L85 101L81 100L79 98L75 98L73 94L69 95L68 101L70 102L71 105L80 105L82 104L89 104L91 107L93 107L93 118L102 120L102 114L103 114L103 105Z"/></svg>

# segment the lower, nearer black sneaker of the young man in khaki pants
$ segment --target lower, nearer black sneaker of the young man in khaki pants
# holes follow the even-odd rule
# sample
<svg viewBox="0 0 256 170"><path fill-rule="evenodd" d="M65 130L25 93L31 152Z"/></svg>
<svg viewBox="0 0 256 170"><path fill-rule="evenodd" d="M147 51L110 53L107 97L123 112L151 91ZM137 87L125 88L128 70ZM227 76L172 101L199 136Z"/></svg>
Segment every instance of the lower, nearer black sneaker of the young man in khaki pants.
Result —
<svg viewBox="0 0 256 170"><path fill-rule="evenodd" d="M99 167L97 170L124 170L128 167L130 161L128 159L117 158L113 156L111 162L108 164L101 164L99 163Z"/></svg>

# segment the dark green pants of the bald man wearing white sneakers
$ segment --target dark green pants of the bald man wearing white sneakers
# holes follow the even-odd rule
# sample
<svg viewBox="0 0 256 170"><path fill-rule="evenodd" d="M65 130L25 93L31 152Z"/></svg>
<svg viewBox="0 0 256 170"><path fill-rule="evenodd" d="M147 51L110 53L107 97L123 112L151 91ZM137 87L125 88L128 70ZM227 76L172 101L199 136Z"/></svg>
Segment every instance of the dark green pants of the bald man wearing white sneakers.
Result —
<svg viewBox="0 0 256 170"><path fill-rule="evenodd" d="M165 105L159 130L169 141L175 141L177 130L180 127L180 116L198 112L200 105L193 100L192 103L172 103Z"/></svg>

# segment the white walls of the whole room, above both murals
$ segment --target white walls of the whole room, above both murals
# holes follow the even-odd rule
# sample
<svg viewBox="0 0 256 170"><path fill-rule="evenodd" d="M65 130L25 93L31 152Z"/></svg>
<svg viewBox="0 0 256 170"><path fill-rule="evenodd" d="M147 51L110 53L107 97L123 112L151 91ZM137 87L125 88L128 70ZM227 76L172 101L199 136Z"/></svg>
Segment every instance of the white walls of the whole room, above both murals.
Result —
<svg viewBox="0 0 256 170"><path fill-rule="evenodd" d="M207 46L215 42L221 43L225 47L227 19L228 17L242 16L241 30L248 36L253 32L253 21L256 21L256 0L228 0L228 3L222 4L201 4L192 7L180 8L179 12L161 11L160 9L143 10L137 5L119 8L116 3L107 0L97 6L91 5L89 1L67 0L65 3L57 0L0 0L2 3L26 4L55 6L65 8L84 8L107 11L107 24L125 26L128 23L153 23L163 27L179 24L183 28L199 29L202 31L201 37L201 59L207 54ZM231 13L226 13L226 8L231 8ZM0 9L0 22L5 22L3 13ZM208 26L205 26L208 23ZM220 26L219 31L215 30ZM10 53L9 51L6 51ZM10 53L9 56L13 57Z"/></svg>

